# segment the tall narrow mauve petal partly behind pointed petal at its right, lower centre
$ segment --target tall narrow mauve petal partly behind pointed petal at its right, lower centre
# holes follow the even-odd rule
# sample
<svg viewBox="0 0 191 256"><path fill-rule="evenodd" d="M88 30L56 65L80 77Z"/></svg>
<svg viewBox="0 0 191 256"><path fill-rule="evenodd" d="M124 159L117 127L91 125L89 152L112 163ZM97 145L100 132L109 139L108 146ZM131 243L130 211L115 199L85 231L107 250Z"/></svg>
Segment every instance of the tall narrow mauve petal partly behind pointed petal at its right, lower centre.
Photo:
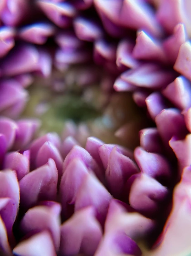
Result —
<svg viewBox="0 0 191 256"><path fill-rule="evenodd" d="M67 165L59 188L62 215L64 217L68 218L73 214L76 196L87 174L88 169L78 156L73 158Z"/></svg>

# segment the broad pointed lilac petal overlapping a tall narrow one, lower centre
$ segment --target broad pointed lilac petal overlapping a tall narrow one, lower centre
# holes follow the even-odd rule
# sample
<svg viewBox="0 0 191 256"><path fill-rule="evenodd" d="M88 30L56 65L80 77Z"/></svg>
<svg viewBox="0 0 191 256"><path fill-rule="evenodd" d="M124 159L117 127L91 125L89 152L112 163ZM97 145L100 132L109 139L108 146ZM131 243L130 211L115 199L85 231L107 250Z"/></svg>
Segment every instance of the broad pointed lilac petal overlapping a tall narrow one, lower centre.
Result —
<svg viewBox="0 0 191 256"><path fill-rule="evenodd" d="M93 206L96 210L97 219L103 225L111 198L110 193L96 176L93 173L88 173L76 195L75 211L86 206Z"/></svg>

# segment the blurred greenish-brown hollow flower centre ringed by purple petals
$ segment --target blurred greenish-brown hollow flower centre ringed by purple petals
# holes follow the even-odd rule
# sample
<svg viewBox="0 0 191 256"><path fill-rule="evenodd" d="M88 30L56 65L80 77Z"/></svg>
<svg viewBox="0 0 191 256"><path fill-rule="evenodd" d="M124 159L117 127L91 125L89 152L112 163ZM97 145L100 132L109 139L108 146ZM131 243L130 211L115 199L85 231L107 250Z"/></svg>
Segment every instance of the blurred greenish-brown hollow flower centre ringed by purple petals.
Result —
<svg viewBox="0 0 191 256"><path fill-rule="evenodd" d="M139 143L142 111L129 93L114 92L112 87L104 90L97 78L89 82L80 81L77 74L86 69L70 67L65 72L52 72L48 79L36 78L28 88L30 100L23 116L40 118L40 135L47 132L61 134L68 121L72 121L78 137L81 136L82 145L88 136L96 136L105 143L134 148ZM124 142L116 134L121 126L127 124L129 131L127 129L125 133L129 134L129 138Z"/></svg>

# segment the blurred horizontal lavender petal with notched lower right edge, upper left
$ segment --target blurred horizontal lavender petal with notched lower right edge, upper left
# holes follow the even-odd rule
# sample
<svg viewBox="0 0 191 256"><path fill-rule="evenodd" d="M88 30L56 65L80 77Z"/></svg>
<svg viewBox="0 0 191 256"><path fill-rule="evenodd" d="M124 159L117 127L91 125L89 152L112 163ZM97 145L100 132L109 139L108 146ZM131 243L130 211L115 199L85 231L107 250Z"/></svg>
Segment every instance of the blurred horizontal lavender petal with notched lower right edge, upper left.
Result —
<svg viewBox="0 0 191 256"><path fill-rule="evenodd" d="M19 37L27 42L34 44L46 43L49 36L54 34L54 27L46 23L36 23L24 28L19 31Z"/></svg>

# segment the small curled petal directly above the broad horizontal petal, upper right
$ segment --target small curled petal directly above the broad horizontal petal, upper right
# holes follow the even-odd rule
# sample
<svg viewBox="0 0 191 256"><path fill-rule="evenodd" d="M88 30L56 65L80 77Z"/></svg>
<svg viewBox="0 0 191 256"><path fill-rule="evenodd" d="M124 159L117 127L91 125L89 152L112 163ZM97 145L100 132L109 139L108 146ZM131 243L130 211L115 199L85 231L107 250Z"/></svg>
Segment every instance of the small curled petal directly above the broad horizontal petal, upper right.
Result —
<svg viewBox="0 0 191 256"><path fill-rule="evenodd" d="M123 39L119 42L116 52L116 64L118 67L136 68L140 63L133 58L134 43L127 39Z"/></svg>

